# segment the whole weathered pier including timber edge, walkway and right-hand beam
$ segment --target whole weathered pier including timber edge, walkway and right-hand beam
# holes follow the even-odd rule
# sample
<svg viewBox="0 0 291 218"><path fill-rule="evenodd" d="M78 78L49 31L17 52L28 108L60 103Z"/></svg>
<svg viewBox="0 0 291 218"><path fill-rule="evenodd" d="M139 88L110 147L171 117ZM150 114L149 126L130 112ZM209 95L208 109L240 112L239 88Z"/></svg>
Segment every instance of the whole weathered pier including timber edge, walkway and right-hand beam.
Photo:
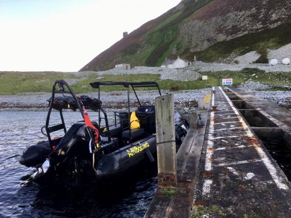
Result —
<svg viewBox="0 0 291 218"><path fill-rule="evenodd" d="M259 138L291 146L291 111L234 87L211 106L178 151L177 190L158 190L146 217L290 218L291 183Z"/></svg>

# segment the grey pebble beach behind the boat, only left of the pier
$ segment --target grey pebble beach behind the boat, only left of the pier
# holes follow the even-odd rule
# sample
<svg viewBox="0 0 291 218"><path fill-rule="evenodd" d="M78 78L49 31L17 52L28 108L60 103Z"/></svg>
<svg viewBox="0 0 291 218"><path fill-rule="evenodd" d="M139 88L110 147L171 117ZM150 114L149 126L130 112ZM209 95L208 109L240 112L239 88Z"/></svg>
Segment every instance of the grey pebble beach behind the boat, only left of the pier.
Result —
<svg viewBox="0 0 291 218"><path fill-rule="evenodd" d="M195 107L197 99L210 93L211 89L201 89L192 91L168 92L175 94L175 104L180 107ZM97 93L86 93L89 96L96 97ZM23 95L2 95L0 96L0 110L47 110L48 102L51 96L50 93L26 93ZM101 92L102 105L105 108L124 108L127 107L127 92ZM140 91L138 96L141 102L153 104L155 96L158 92L155 91ZM137 106L137 100L134 93L130 93L130 100L133 106Z"/></svg>

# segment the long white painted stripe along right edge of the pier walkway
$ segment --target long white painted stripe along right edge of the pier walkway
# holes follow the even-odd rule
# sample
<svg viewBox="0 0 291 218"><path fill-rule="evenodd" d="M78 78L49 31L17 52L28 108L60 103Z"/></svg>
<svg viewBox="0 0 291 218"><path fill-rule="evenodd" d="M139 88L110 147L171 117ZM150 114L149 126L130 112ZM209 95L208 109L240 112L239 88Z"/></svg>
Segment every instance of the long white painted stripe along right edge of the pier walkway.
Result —
<svg viewBox="0 0 291 218"><path fill-rule="evenodd" d="M221 87L219 87L219 89L222 91ZM233 106L232 102L227 97L226 93L224 93L223 91L222 91L222 93L225 95L226 99L228 100L229 105L232 106L232 109L235 111L235 113L237 115L239 115L240 114L239 111ZM241 116L239 116L239 119L243 124L245 124L245 122L243 121ZM250 138L257 139L257 138L255 138L254 134L252 133L252 131L248 127L247 127L247 135ZM255 141L254 141L254 143L255 143ZM289 187L286 184L283 183L284 179L282 178L282 176L280 176L279 172L275 168L275 166L272 163L272 161L270 160L270 158L267 156L267 154L261 148L259 141L256 143L255 148L256 148L260 158L262 159L264 165L266 166L266 168L270 172L270 174L271 174L273 180L275 181L277 187L280 188L280 189L289 189Z"/></svg>

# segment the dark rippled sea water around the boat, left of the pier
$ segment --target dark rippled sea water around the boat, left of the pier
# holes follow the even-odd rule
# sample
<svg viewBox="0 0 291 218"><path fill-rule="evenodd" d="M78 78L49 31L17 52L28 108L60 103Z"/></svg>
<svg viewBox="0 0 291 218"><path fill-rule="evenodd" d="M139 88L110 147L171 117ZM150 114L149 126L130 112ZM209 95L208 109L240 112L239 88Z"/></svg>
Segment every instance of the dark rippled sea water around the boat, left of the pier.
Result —
<svg viewBox="0 0 291 218"><path fill-rule="evenodd" d="M114 184L90 180L38 186L31 182L34 170L20 165L18 158L26 147L47 139L40 132L46 116L41 111L0 111L0 217L144 217L157 188L154 167ZM77 112L64 117L70 124L81 120ZM52 125L60 124L57 112L51 120Z"/></svg>

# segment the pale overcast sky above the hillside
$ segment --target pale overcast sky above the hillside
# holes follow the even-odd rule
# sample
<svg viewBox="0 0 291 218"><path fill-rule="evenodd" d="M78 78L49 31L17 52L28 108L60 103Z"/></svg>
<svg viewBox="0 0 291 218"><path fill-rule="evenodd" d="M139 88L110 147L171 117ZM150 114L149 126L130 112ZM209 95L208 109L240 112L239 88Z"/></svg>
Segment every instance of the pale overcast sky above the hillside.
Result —
<svg viewBox="0 0 291 218"><path fill-rule="evenodd" d="M78 71L180 0L0 0L0 71Z"/></svg>

